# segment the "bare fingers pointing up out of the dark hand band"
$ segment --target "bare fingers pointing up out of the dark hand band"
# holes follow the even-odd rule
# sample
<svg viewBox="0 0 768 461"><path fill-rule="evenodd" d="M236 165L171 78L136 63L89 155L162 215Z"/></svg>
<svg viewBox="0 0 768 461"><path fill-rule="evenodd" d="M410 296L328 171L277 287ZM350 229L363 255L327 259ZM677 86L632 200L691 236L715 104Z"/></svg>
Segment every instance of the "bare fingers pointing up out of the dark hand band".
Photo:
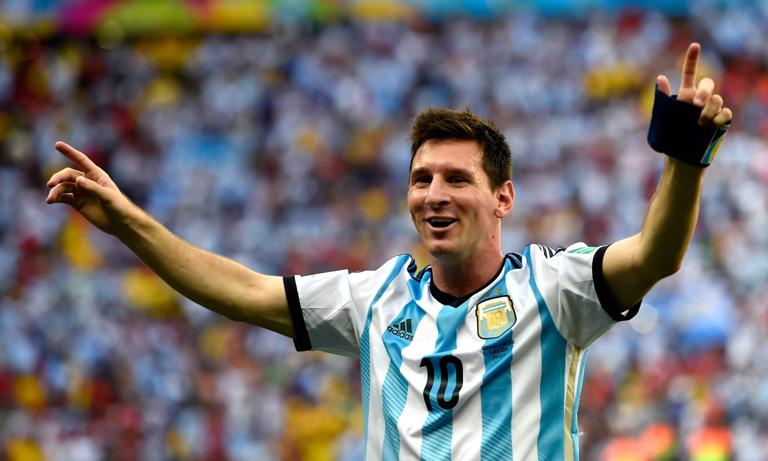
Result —
<svg viewBox="0 0 768 461"><path fill-rule="evenodd" d="M696 86L696 73L699 67L699 56L701 55L701 45L691 43L688 45L688 51L685 53L683 62L682 78L680 79L680 89L677 92L677 99L696 107L700 107L699 125L723 126L733 119L733 112L727 107L723 107L723 97L714 94L715 82L705 77L701 79ZM659 89L667 96L671 94L669 79L665 75L656 77Z"/></svg>

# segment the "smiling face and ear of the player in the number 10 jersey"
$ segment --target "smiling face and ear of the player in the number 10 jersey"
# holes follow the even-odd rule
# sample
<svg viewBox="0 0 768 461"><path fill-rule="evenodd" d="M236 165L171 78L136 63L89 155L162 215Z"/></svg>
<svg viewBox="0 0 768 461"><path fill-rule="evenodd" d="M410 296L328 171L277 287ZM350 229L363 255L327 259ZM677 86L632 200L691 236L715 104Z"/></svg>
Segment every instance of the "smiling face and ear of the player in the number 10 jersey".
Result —
<svg viewBox="0 0 768 461"><path fill-rule="evenodd" d="M408 210L433 258L460 263L501 254L501 218L512 210L506 181L494 190L475 141L429 140L413 158Z"/></svg>

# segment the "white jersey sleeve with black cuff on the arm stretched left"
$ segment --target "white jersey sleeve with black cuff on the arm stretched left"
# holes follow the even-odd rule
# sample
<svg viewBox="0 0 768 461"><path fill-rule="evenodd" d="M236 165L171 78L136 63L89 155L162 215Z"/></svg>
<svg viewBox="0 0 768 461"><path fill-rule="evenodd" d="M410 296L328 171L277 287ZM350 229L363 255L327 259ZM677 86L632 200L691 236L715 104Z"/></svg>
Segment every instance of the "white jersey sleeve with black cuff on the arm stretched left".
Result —
<svg viewBox="0 0 768 461"><path fill-rule="evenodd" d="M356 356L376 293L403 265L403 258L393 258L373 271L285 277L296 350Z"/></svg>

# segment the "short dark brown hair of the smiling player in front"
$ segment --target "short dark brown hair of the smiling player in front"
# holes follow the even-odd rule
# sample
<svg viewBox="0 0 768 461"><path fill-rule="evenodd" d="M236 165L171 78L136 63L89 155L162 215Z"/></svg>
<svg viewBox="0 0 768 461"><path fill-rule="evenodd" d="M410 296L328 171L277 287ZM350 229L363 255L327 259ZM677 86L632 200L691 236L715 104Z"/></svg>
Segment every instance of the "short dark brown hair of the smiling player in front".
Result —
<svg viewBox="0 0 768 461"><path fill-rule="evenodd" d="M450 109L429 108L416 116L411 126L411 166L416 152L431 139L475 141L483 152L483 170L495 190L512 178L512 152L507 139L490 120Z"/></svg>

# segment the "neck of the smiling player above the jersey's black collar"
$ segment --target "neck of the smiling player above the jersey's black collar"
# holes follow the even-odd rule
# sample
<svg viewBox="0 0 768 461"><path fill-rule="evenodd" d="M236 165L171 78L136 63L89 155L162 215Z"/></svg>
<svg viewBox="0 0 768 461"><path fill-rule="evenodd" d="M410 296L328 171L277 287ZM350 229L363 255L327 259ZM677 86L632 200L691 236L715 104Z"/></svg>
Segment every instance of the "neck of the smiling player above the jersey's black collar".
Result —
<svg viewBox="0 0 768 461"><path fill-rule="evenodd" d="M491 281L504 262L501 250L490 256L461 261L432 257L432 281L440 291L451 296L466 296Z"/></svg>

